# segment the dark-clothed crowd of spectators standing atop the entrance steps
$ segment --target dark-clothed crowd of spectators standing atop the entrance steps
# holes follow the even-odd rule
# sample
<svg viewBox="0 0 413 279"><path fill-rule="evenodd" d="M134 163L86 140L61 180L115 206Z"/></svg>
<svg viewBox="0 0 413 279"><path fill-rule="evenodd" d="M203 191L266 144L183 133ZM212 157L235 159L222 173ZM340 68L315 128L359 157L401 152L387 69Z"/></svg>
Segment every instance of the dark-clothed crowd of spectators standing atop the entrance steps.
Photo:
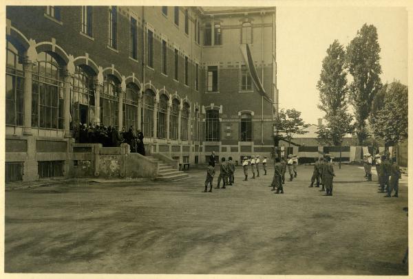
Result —
<svg viewBox="0 0 413 279"><path fill-rule="evenodd" d="M104 124L79 124L78 129L74 131L74 138L79 144L102 144L103 147L118 147L122 143L129 144L131 153L140 153L145 155L145 146L143 144L143 133L135 133L134 126L125 131L122 127L120 131L115 127L105 126Z"/></svg>

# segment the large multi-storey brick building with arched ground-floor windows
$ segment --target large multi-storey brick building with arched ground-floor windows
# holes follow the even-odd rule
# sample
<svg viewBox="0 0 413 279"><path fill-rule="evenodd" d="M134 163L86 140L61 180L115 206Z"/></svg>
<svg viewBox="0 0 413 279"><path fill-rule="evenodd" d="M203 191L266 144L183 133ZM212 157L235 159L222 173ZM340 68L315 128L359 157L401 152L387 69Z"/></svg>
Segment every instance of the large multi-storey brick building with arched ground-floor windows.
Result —
<svg viewBox="0 0 413 279"><path fill-rule="evenodd" d="M67 176L79 123L191 164L268 155L275 8L8 6L6 174Z"/></svg>

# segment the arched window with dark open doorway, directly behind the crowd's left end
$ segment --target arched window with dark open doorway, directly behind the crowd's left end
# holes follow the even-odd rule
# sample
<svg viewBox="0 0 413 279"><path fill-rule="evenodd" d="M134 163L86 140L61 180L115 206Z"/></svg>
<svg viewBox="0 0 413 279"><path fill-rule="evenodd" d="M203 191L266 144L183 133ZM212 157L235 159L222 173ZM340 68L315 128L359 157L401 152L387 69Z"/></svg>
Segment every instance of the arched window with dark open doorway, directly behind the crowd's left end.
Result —
<svg viewBox="0 0 413 279"><path fill-rule="evenodd" d="M95 120L94 81L89 73L85 68L77 66L72 78L72 126L89 124Z"/></svg>

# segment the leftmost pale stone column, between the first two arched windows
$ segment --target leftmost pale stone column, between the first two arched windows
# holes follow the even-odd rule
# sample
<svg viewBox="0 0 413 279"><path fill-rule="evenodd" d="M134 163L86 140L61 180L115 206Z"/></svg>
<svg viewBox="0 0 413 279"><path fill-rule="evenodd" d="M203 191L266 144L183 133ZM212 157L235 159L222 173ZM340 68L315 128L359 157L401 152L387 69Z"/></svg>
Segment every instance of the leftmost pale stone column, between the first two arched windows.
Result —
<svg viewBox="0 0 413 279"><path fill-rule="evenodd" d="M33 63L26 58L23 61L24 71L24 129L23 135L32 135L32 72Z"/></svg>

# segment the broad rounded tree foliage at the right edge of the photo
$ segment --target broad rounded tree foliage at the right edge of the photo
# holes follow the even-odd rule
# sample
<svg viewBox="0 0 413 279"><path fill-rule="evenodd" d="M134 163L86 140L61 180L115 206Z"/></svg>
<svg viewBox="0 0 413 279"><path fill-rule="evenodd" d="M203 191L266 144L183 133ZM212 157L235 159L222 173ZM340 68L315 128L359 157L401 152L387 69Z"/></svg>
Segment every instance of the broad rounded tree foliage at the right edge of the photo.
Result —
<svg viewBox="0 0 413 279"><path fill-rule="evenodd" d="M374 102L382 102L382 106L371 115L370 123L374 136L392 146L408 135L408 89L401 82L392 82L382 93L374 99Z"/></svg>

